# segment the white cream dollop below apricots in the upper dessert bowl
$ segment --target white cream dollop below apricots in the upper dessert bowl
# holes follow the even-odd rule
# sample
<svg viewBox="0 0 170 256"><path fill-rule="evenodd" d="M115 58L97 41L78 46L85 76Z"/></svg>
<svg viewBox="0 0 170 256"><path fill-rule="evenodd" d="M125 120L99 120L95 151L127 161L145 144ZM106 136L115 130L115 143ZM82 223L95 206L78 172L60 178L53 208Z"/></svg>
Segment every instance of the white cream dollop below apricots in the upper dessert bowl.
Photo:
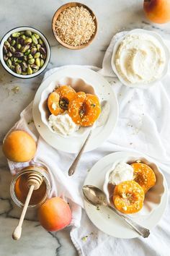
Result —
<svg viewBox="0 0 170 256"><path fill-rule="evenodd" d="M62 135L63 137L72 135L73 132L76 132L80 127L73 122L67 111L63 114L59 114L58 116L51 114L48 119L48 124L54 132L58 133L58 135Z"/></svg>

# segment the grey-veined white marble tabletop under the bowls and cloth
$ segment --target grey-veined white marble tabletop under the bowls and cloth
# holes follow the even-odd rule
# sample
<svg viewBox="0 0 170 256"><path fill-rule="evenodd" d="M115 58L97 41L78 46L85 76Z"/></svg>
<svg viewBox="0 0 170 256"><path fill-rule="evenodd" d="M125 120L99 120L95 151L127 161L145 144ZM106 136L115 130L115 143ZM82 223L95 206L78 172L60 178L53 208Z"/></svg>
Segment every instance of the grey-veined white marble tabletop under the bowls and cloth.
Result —
<svg viewBox="0 0 170 256"><path fill-rule="evenodd" d="M79 0L81 1L81 0ZM50 41L52 56L48 69L64 64L91 64L102 66L104 52L112 35L120 30L136 27L158 30L161 35L170 38L170 25L153 25L143 14L142 0L86 0L97 15L99 32L88 48L70 51L59 46L51 31L51 20L58 7L67 1L62 0L0 0L0 38L13 27L30 25L42 31ZM6 73L0 66L0 139L19 119L19 113L34 98L43 74L31 80L19 80ZM12 88L19 86L19 92ZM6 159L0 152L0 256L27 255L77 255L71 244L69 229L58 233L49 233L36 221L35 212L27 214L24 221L23 236L19 242L12 241L11 234L17 224L20 209L12 202L9 195L11 175Z"/></svg>

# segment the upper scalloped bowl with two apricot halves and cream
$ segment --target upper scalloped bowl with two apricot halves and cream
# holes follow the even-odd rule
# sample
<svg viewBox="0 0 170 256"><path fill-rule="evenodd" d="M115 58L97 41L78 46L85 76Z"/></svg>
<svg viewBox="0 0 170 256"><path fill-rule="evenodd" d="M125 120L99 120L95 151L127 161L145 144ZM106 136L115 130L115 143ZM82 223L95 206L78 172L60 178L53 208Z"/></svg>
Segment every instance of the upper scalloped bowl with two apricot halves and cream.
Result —
<svg viewBox="0 0 170 256"><path fill-rule="evenodd" d="M42 122L61 137L84 135L101 111L93 86L76 77L51 82L42 91L39 110Z"/></svg>

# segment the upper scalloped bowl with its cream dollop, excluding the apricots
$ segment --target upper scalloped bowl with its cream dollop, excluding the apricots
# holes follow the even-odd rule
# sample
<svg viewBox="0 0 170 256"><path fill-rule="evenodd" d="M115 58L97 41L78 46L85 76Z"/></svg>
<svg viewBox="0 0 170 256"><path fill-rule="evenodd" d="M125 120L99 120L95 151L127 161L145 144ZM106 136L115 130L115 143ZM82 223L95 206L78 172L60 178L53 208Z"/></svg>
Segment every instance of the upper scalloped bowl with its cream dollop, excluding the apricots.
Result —
<svg viewBox="0 0 170 256"><path fill-rule="evenodd" d="M58 114L55 116L50 114L48 110L48 96L56 88L62 85L71 86L76 92L83 91L84 93L96 94L92 85L89 85L85 80L79 77L62 77L60 80L55 80L50 82L45 90L42 91L39 111L41 115L42 122L50 129L50 132L60 135L61 137L79 137L88 132L91 127L80 127L75 124L68 115L68 111L64 111L63 114Z"/></svg>

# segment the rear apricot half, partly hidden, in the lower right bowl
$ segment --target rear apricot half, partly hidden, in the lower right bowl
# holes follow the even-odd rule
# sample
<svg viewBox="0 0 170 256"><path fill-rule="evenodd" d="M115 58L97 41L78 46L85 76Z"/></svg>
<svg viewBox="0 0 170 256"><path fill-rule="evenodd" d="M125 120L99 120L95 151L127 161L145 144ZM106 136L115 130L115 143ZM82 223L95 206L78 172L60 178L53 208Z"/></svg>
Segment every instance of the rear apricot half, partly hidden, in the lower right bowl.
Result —
<svg viewBox="0 0 170 256"><path fill-rule="evenodd" d="M156 175L145 163L132 163L134 181L140 184L146 193L156 184Z"/></svg>

